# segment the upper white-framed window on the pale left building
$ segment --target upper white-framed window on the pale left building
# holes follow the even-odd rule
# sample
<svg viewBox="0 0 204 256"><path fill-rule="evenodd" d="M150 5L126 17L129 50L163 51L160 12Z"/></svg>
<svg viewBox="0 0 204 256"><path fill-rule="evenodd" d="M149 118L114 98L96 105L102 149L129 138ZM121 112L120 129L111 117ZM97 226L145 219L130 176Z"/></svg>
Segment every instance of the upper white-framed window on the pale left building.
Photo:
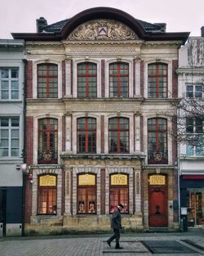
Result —
<svg viewBox="0 0 204 256"><path fill-rule="evenodd" d="M0 68L0 99L18 100L19 68Z"/></svg>

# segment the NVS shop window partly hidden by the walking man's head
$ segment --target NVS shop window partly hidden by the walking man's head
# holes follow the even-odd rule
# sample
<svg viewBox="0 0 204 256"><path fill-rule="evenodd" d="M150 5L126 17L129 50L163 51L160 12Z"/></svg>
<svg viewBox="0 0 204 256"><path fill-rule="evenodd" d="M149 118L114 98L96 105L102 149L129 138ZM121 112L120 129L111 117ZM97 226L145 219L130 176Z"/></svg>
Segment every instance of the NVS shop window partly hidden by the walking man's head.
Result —
<svg viewBox="0 0 204 256"><path fill-rule="evenodd" d="M122 173L110 175L109 193L109 212L113 213L118 204L123 204L124 209L122 209L122 213L129 213L128 175Z"/></svg>

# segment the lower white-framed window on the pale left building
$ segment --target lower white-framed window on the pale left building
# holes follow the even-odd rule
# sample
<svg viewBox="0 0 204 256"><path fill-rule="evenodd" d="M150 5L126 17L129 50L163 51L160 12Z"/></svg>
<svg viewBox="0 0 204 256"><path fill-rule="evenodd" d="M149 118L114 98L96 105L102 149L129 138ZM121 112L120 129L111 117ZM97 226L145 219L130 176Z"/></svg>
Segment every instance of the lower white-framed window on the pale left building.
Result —
<svg viewBox="0 0 204 256"><path fill-rule="evenodd" d="M0 157L20 156L20 119L0 118Z"/></svg>

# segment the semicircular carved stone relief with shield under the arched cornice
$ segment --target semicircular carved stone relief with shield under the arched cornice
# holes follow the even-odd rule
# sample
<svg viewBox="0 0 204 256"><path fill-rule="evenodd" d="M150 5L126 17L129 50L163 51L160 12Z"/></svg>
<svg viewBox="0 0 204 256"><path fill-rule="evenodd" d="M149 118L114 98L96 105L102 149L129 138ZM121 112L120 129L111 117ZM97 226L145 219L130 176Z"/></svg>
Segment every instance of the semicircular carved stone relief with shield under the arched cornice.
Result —
<svg viewBox="0 0 204 256"><path fill-rule="evenodd" d="M117 20L91 20L79 25L68 40L135 40L133 30Z"/></svg>

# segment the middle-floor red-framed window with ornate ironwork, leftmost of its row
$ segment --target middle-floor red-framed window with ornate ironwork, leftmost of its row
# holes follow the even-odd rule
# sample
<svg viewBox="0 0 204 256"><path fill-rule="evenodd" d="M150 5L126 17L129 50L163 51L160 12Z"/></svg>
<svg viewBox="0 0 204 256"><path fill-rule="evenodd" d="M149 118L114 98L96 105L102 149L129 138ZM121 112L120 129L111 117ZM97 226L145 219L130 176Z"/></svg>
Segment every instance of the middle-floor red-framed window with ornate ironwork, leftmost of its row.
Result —
<svg viewBox="0 0 204 256"><path fill-rule="evenodd" d="M38 120L38 164L56 164L58 156L57 119Z"/></svg>

